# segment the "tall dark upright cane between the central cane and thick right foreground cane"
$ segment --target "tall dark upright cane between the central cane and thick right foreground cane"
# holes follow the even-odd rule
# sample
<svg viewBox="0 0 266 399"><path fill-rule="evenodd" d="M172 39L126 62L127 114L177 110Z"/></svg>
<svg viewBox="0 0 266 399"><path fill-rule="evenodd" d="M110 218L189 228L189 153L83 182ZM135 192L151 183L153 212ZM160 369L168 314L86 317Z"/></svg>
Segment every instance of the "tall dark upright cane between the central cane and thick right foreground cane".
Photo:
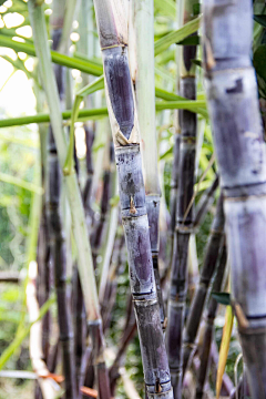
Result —
<svg viewBox="0 0 266 399"><path fill-rule="evenodd" d="M196 1L186 0L184 21L194 18ZM184 47L180 92L181 95L194 100L196 96L195 58L196 47ZM178 191L176 198L176 233L174 238L171 289L168 300L168 326L166 345L170 370L175 399L181 399L182 391L182 331L184 327L185 300L187 293L187 252L190 233L193 227L193 209L188 212L194 187L194 167L196 155L196 115L190 111L180 112L180 154L178 154Z"/></svg>

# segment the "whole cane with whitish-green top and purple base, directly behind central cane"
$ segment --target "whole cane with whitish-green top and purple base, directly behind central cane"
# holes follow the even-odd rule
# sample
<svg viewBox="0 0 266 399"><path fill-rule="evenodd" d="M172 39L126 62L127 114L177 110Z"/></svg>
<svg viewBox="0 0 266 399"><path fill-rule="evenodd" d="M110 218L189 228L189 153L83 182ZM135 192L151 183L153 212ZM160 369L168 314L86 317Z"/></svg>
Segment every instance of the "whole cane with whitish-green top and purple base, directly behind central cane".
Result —
<svg viewBox="0 0 266 399"><path fill-rule="evenodd" d="M157 168L155 83L154 83L154 10L153 0L130 2L130 68L136 99L136 111L142 134L142 160L146 193L146 211L153 257L153 269L164 324L164 305L158 273L160 182ZM145 38L145 40L143 40Z"/></svg>

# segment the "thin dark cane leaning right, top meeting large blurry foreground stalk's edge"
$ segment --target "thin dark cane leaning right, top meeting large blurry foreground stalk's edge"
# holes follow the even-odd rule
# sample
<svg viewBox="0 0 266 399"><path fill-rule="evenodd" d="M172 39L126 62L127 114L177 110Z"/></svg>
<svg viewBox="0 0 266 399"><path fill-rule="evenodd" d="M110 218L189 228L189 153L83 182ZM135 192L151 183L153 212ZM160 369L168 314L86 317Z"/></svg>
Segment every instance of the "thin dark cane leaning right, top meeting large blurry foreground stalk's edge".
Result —
<svg viewBox="0 0 266 399"><path fill-rule="evenodd" d="M221 195L217 203L216 215L211 228L211 234L205 252L205 258L201 270L200 283L193 298L185 326L183 377L185 375L186 368L190 367L190 357L193 351L193 346L201 324L209 283L212 280L214 269L218 259L219 247L224 236L224 223L225 218L223 209L223 195Z"/></svg>

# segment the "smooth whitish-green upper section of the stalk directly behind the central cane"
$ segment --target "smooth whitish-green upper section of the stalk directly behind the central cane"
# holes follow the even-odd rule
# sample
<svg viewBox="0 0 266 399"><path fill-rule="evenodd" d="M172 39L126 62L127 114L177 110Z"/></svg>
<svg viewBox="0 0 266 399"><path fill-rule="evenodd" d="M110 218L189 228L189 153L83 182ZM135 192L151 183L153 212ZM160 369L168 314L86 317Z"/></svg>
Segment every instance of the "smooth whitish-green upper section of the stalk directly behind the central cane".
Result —
<svg viewBox="0 0 266 399"><path fill-rule="evenodd" d="M130 68L141 130L145 192L146 195L160 195L155 125L153 0L134 0L130 3Z"/></svg>

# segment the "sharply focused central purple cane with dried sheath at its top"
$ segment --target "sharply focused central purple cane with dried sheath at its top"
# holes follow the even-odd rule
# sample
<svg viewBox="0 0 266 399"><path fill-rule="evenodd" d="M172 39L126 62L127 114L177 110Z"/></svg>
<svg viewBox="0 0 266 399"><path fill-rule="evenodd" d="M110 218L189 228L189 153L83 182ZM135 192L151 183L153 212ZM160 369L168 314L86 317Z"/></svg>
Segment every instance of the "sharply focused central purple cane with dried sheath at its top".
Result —
<svg viewBox="0 0 266 399"><path fill-rule="evenodd" d="M123 1L95 0L94 4L147 397L173 398L152 265L140 133L126 49L126 9Z"/></svg>

